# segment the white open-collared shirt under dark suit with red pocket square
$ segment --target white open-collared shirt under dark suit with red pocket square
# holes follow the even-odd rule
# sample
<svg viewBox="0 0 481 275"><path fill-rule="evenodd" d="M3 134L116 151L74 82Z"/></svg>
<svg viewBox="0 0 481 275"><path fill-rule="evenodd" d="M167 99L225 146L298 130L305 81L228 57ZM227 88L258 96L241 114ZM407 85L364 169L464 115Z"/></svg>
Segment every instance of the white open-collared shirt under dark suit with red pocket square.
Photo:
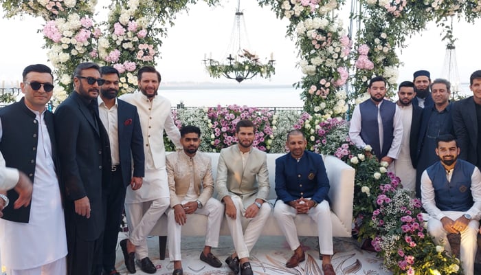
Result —
<svg viewBox="0 0 481 275"><path fill-rule="evenodd" d="M110 143L110 155L112 159L112 165L120 164L119 156L119 131L118 131L118 103L117 98L115 98L115 104L109 109L105 105L104 101L100 96L98 100L98 115L102 124L104 124L107 133L109 133L109 143Z"/></svg>

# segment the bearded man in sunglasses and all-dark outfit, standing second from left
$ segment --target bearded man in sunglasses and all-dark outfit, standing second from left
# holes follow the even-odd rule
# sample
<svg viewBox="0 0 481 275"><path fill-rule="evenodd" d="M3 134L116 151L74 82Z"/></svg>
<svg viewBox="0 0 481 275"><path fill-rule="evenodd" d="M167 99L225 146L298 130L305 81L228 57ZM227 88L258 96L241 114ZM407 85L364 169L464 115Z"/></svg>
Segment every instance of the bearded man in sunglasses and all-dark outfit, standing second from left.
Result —
<svg viewBox="0 0 481 275"><path fill-rule="evenodd" d="M102 181L109 182L111 160L107 132L98 117L100 67L80 63L74 92L55 112L62 181L65 185L67 274L93 274L101 259L104 215Z"/></svg>

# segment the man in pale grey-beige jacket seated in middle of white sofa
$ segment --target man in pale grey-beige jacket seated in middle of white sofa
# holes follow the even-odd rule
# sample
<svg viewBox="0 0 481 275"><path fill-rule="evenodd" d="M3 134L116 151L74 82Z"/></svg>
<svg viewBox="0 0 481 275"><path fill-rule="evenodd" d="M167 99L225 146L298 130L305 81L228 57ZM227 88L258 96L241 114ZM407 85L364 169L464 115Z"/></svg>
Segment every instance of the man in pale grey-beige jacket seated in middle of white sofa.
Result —
<svg viewBox="0 0 481 275"><path fill-rule="evenodd" d="M267 155L252 147L254 123L240 120L236 124L238 143L223 148L217 166L216 190L219 200L225 203L227 225L232 234L236 252L227 257L225 263L241 275L251 275L249 252L259 239L271 206L269 196L269 172ZM243 232L242 219L248 220ZM240 267L239 267L240 265Z"/></svg>

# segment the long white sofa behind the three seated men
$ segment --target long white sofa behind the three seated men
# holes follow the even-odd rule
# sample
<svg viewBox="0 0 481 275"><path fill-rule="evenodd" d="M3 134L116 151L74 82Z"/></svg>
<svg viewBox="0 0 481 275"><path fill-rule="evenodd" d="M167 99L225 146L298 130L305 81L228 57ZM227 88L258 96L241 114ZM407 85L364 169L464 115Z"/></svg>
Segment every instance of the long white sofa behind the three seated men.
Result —
<svg viewBox="0 0 481 275"><path fill-rule="evenodd" d="M217 161L219 153L208 153L212 158L212 173L216 179ZM269 193L269 202L273 205L277 195L275 188L275 171L276 158L283 154L267 154L267 166L269 168L269 182L271 184L271 192ZM354 176L355 169L348 166L332 155L324 157L327 175L331 189L329 190L329 198L331 199L331 220L333 223L333 235L349 237L351 236L351 224L353 221L353 197L354 197ZM216 192L214 191L214 197ZM307 215L298 215L295 218L299 236L317 236L317 227L315 222ZM205 236L207 225L207 217L201 214L188 215L187 223L182 228L183 236ZM282 236L282 232L278 228L276 219L271 215L267 221L262 234L266 236ZM165 258L166 236L167 236L167 217L162 215L161 219L150 232L151 236L159 236L160 259ZM230 235L227 222L223 221L221 225L221 235Z"/></svg>

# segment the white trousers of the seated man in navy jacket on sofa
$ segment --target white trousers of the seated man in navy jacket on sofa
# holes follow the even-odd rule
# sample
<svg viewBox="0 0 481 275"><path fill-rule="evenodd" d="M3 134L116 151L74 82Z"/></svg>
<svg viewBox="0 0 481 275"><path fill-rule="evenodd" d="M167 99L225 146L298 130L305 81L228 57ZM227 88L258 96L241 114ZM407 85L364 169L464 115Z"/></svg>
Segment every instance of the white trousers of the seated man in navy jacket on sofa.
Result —
<svg viewBox="0 0 481 275"><path fill-rule="evenodd" d="M284 203L284 201L276 201L274 206L274 217L279 224L279 228L286 236L287 243L291 246L291 250L295 250L300 246L298 230L295 228L294 218L298 215L295 208ZM332 255L333 253L333 223L331 221L331 209L329 203L324 200L317 204L315 208L309 209L307 215L317 223L317 236L319 238L320 252L323 255Z"/></svg>

